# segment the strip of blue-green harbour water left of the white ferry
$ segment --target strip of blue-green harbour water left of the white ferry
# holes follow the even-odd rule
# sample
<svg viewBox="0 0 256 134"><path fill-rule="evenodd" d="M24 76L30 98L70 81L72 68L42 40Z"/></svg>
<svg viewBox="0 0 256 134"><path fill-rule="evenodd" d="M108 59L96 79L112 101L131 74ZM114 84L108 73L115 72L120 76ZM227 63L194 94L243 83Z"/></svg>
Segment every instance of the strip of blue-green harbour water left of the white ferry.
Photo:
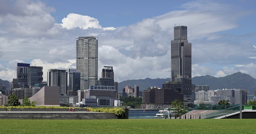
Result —
<svg viewBox="0 0 256 134"><path fill-rule="evenodd" d="M129 110L129 119L152 119L152 118L165 118L165 117L156 117L155 115L158 113L158 110L152 109L140 109L140 110Z"/></svg>

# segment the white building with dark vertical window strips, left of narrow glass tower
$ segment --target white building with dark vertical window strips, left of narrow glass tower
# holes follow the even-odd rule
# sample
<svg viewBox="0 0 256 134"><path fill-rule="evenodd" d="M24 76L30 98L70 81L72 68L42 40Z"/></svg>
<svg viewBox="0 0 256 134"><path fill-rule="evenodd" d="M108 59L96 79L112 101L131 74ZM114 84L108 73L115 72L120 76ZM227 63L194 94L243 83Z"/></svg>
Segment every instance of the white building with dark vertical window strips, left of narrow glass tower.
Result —
<svg viewBox="0 0 256 134"><path fill-rule="evenodd" d="M59 86L60 94L67 94L67 70L49 69L47 72L47 86Z"/></svg>

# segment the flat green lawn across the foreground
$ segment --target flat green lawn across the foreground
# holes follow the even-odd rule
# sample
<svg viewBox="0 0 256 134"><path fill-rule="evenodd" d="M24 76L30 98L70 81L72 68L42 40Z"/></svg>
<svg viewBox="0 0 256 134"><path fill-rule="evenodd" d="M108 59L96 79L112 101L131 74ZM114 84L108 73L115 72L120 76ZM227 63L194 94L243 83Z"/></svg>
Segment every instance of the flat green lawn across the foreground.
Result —
<svg viewBox="0 0 256 134"><path fill-rule="evenodd" d="M1 119L3 133L256 133L256 119Z"/></svg>

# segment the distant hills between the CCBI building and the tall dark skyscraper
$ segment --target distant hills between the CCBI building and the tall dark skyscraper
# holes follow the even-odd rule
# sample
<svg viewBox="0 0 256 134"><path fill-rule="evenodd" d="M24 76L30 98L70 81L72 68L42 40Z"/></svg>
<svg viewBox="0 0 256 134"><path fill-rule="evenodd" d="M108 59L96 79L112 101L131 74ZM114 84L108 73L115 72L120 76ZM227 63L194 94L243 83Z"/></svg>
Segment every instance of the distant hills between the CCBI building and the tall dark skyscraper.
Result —
<svg viewBox="0 0 256 134"><path fill-rule="evenodd" d="M166 78L166 79L146 78L146 79L139 79L139 80L125 80L125 81L118 83L118 92L123 91L123 88L125 88L125 86L130 86L130 87L134 88L134 85L138 85L140 87L140 91L143 91L149 87L162 87L162 84L164 82L167 82L170 80L171 80L171 78Z"/></svg>

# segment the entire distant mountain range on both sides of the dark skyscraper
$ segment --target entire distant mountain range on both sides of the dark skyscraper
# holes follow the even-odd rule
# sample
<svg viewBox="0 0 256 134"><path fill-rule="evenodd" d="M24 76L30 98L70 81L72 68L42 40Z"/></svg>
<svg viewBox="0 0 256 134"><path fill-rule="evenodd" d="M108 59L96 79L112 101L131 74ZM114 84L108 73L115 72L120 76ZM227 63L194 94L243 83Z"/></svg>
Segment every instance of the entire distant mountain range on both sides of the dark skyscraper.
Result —
<svg viewBox="0 0 256 134"><path fill-rule="evenodd" d="M171 78L166 79L139 79L139 80L125 80L118 83L118 92L123 91L126 85L134 88L134 85L140 87L140 91L148 87L162 87L162 83L170 81ZM210 75L196 76L192 78L192 83L196 85L209 85L210 90L216 89L246 89L249 94L254 94L256 90L256 79L245 73L234 73L225 77L213 77Z"/></svg>

